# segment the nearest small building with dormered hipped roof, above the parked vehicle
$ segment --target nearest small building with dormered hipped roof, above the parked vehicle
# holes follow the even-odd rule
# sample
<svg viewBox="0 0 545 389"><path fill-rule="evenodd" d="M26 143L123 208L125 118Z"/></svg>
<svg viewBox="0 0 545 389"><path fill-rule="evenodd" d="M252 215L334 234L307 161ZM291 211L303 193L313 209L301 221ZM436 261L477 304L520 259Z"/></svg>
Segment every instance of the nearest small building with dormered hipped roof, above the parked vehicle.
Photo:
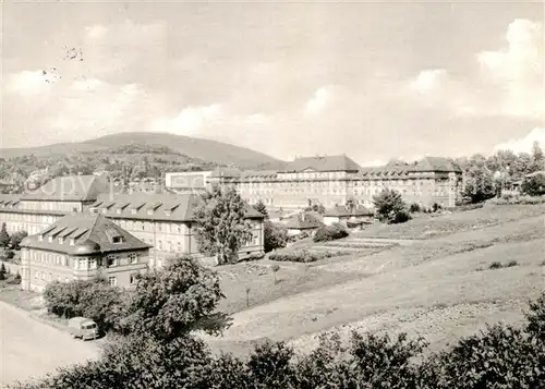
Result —
<svg viewBox="0 0 545 389"><path fill-rule="evenodd" d="M150 246L102 215L64 216L21 242L22 289L41 292L52 281L104 277L130 287L146 272Z"/></svg>

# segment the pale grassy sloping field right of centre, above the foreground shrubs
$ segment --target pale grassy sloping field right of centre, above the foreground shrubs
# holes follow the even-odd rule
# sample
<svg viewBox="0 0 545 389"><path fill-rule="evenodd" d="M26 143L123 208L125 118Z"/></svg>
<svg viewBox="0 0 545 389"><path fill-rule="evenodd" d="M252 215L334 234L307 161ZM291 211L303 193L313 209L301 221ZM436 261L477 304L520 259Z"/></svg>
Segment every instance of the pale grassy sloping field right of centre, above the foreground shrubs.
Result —
<svg viewBox="0 0 545 389"><path fill-rule="evenodd" d="M387 329L424 336L433 350L486 323L517 323L528 300L545 290L545 207L494 208L463 212L471 218L462 212L429 218L432 228L457 220L441 236L315 264L314 270L346 281L239 312L222 339L209 339L234 352L264 338L291 340L304 351L328 329ZM411 231L421 233L426 224L420 226ZM517 266L489 269L494 262Z"/></svg>

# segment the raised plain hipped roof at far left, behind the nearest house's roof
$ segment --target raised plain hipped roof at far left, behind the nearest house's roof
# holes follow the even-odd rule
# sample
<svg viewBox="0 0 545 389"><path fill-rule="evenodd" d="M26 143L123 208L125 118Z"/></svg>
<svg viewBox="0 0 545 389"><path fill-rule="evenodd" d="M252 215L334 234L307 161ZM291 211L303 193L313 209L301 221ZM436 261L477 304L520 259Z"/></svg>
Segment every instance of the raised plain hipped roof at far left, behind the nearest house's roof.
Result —
<svg viewBox="0 0 545 389"><path fill-rule="evenodd" d="M97 175L58 177L37 190L25 193L22 200L92 202L109 191L108 180Z"/></svg>

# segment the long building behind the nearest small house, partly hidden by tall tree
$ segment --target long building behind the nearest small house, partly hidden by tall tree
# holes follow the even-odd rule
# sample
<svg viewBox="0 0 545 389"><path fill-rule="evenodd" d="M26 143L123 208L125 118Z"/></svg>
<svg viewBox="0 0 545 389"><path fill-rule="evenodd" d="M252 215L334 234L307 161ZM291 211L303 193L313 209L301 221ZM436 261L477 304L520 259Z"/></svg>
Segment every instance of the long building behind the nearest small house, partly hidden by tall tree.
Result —
<svg viewBox="0 0 545 389"><path fill-rule="evenodd" d="M0 195L0 222L9 233L35 234L73 212L100 214L153 248L149 265L160 267L174 254L198 256L193 211L196 194L118 194L94 175L57 178L23 195ZM263 215L247 206L253 239L240 257L263 253Z"/></svg>

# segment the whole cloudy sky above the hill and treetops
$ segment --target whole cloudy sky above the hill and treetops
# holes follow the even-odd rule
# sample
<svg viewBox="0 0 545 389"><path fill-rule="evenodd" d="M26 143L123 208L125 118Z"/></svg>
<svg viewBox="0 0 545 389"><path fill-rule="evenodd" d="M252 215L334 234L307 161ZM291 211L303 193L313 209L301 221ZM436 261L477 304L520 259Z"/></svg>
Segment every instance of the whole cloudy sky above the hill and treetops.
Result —
<svg viewBox="0 0 545 389"><path fill-rule="evenodd" d="M542 2L4 3L0 147L128 131L361 163L545 145Z"/></svg>

